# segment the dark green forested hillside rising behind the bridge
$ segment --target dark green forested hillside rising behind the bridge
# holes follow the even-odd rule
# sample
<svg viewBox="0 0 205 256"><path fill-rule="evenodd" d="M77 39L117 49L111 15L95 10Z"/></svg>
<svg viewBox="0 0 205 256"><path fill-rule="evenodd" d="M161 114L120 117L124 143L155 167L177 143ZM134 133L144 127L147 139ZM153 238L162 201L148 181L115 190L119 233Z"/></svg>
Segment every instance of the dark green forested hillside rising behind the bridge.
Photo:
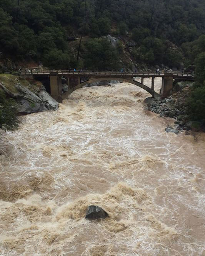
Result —
<svg viewBox="0 0 205 256"><path fill-rule="evenodd" d="M62 69L181 68L205 33L203 0L1 0L0 17L2 59Z"/></svg>

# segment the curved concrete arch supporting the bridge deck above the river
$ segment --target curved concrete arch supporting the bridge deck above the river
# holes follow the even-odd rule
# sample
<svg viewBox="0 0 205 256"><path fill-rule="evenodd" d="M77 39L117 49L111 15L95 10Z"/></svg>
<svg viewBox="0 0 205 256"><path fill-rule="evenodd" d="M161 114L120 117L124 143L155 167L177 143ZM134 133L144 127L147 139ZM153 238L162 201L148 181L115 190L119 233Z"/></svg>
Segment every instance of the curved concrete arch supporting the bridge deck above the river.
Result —
<svg viewBox="0 0 205 256"><path fill-rule="evenodd" d="M120 77L106 77L106 78L90 78L88 81L85 81L83 83L79 83L78 85L69 88L68 86L68 91L64 94L61 95L62 100L66 99L68 97L68 95L70 95L70 93L74 92L75 90L82 88L82 86L87 85L88 83L94 83L97 81L111 81L111 80L117 80L117 81L121 81L121 82L126 82L126 83L132 83L133 85L137 85L140 88L144 89L145 91L147 91L148 93L150 93L152 95L152 97L156 98L157 100L160 99L160 95L155 92L153 89L153 83L152 83L152 88L149 88L148 86L144 85L143 83L139 83L133 79L127 79L127 78L120 78Z"/></svg>

